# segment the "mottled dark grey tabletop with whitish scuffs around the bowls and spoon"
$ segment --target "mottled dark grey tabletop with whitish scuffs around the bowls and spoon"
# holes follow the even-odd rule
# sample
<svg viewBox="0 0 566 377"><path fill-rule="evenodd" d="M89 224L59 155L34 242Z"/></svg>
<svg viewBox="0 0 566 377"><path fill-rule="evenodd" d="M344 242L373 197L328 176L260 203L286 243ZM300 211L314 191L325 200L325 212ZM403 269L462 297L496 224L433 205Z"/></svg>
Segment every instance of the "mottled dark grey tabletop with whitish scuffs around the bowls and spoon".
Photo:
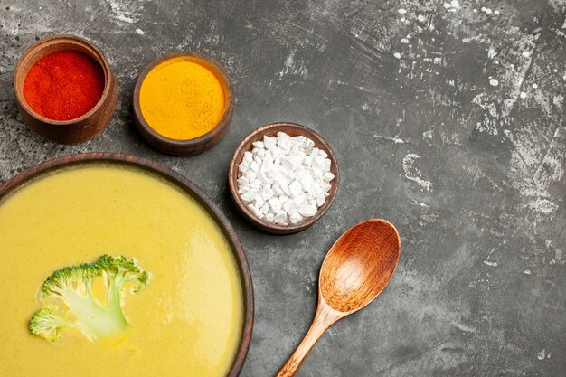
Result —
<svg viewBox="0 0 566 377"><path fill-rule="evenodd" d="M278 371L314 314L326 250L372 217L399 228L399 268L381 297L322 337L297 376L566 375L561 0L0 5L0 181L55 156L111 151L200 185L250 261L256 325L242 376ZM78 146L33 134L15 105L16 61L52 33L95 42L118 76L114 118ZM200 156L158 153L132 122L137 73L174 50L220 61L237 97L229 133ZM280 120L323 135L343 174L325 217L284 237L251 229L226 184L241 138Z"/></svg>

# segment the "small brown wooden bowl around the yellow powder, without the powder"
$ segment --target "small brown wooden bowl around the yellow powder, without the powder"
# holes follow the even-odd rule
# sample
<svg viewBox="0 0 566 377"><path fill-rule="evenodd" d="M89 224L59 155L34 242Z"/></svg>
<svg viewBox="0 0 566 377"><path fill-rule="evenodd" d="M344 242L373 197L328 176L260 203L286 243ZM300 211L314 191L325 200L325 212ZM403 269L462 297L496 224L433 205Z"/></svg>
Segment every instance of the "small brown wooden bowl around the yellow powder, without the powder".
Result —
<svg viewBox="0 0 566 377"><path fill-rule="evenodd" d="M224 109L224 115L218 124L203 136L186 140L177 140L171 137L165 137L158 133L153 127L149 126L139 106L139 91L141 90L142 83L146 80L146 76L149 71L153 70L157 65L164 61L179 57L187 57L194 61L198 61L199 64L202 64L205 68L211 71L221 82L222 88L224 89L224 95L226 96L226 108ZM139 132L142 137L146 139L147 143L169 155L192 156L212 148L212 146L218 143L224 134L226 134L234 108L234 93L228 74L218 62L198 52L169 52L160 56L155 61L150 62L144 71L140 73L137 78L136 87L134 88L134 98L132 102L137 129L139 129Z"/></svg>

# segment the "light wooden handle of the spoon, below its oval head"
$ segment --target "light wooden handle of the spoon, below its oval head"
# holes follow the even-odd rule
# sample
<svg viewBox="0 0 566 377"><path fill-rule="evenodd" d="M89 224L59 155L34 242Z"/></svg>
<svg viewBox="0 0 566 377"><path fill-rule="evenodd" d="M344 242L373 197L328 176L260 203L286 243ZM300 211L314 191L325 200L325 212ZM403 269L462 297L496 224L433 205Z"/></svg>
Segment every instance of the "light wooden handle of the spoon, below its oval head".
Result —
<svg viewBox="0 0 566 377"><path fill-rule="evenodd" d="M289 357L287 363L283 365L283 368L281 368L276 377L294 376L298 367L303 363L303 360L305 360L305 357L307 357L308 352L313 348L316 341L325 334L328 327L333 325L340 318L341 316L330 308L330 306L324 301L320 301L316 308L315 319L313 319L313 324L310 325L307 335L305 335L303 341L298 344L297 349L291 357Z"/></svg>

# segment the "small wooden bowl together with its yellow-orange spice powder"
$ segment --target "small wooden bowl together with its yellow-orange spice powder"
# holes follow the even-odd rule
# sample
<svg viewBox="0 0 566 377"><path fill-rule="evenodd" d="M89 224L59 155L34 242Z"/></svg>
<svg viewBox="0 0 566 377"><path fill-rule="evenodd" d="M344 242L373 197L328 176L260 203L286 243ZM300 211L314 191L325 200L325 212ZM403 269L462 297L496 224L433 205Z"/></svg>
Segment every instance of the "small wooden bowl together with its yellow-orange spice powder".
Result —
<svg viewBox="0 0 566 377"><path fill-rule="evenodd" d="M146 141L188 156L214 146L230 124L234 96L222 66L197 52L171 52L137 79L134 118Z"/></svg>

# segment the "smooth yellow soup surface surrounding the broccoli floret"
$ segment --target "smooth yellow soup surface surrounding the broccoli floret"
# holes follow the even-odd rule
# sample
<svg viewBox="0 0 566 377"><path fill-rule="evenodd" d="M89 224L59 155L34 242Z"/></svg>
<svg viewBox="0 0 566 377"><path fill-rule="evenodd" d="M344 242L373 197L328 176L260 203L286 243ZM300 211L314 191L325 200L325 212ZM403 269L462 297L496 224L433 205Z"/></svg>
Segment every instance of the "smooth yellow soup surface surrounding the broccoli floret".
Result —
<svg viewBox="0 0 566 377"><path fill-rule="evenodd" d="M125 294L119 339L62 329L48 342L28 320L56 269L102 254L151 274ZM0 202L0 374L10 377L221 377L240 344L241 277L203 207L155 174L86 164L43 174Z"/></svg>

